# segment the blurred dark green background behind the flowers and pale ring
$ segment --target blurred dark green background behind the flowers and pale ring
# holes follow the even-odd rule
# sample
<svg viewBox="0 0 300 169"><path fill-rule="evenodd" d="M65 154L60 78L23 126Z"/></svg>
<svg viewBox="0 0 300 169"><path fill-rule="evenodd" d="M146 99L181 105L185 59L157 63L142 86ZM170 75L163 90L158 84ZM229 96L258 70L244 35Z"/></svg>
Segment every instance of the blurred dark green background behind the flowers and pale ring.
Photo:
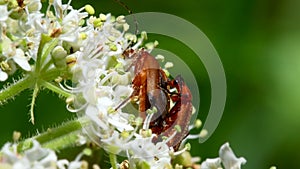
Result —
<svg viewBox="0 0 300 169"><path fill-rule="evenodd" d="M202 159L216 157L219 147L228 141L238 156L247 159L244 169L272 165L298 168L300 1L123 2L133 12L165 12L190 21L207 35L220 55L228 85L225 111L212 137L203 144L193 144L193 154ZM74 0L72 4L81 7L85 3L92 4L97 13L128 14L113 0ZM160 48L183 59L193 55L174 39L149 36L160 42ZM210 102L209 79L203 66L191 66L195 74L201 75L197 77L201 94L199 117L204 121ZM1 145L11 140L14 130L27 137L75 116L65 110L63 100L43 91L37 99L33 126L29 123L29 96L30 91L23 92L13 102L1 106Z"/></svg>

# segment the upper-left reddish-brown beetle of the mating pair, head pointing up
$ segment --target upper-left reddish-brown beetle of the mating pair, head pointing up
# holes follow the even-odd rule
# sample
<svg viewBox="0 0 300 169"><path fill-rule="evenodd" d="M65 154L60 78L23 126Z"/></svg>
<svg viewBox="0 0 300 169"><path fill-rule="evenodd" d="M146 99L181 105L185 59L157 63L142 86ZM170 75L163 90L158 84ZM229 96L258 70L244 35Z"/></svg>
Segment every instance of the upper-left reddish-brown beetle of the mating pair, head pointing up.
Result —
<svg viewBox="0 0 300 169"><path fill-rule="evenodd" d="M140 116L145 119L146 111L155 107L157 113L152 119L158 116L165 117L170 106L168 93L162 90L162 86L168 80L165 72L157 60L143 49L136 52L132 58L135 76L131 97L138 97Z"/></svg>

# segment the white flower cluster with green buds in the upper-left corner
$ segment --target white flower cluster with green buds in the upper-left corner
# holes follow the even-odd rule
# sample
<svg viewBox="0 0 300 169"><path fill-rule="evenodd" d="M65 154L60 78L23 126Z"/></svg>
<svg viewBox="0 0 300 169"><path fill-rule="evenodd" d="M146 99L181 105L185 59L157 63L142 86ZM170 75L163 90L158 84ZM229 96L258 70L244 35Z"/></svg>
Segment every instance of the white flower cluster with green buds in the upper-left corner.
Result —
<svg viewBox="0 0 300 169"><path fill-rule="evenodd" d="M0 81L18 68L32 71L30 60L32 63L37 60L43 35L58 39L58 46L76 50L87 29L94 27L93 23L85 23L86 8L73 9L61 0L50 0L45 14L41 8L40 0L0 2ZM46 57L44 61L50 60Z"/></svg>

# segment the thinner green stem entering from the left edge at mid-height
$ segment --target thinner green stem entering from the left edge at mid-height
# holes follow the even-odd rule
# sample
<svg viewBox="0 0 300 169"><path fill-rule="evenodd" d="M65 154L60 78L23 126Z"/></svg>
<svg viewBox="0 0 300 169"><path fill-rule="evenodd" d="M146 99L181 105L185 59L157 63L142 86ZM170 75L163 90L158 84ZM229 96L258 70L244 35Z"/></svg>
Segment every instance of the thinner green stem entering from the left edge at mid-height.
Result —
<svg viewBox="0 0 300 169"><path fill-rule="evenodd" d="M11 84L10 86L2 89L0 91L0 103L3 103L8 99L13 98L25 89L30 88L34 84L34 82L35 81L31 77L27 76Z"/></svg>

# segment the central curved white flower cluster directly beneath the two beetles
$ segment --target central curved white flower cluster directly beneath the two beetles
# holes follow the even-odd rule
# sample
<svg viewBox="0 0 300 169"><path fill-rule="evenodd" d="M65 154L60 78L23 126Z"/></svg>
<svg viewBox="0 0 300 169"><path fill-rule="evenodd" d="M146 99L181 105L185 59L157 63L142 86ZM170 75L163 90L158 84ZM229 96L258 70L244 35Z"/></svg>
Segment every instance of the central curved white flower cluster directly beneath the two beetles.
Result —
<svg viewBox="0 0 300 169"><path fill-rule="evenodd" d="M104 17L104 16L102 16ZM129 39L136 39L125 34L127 25L122 17L112 21L105 16L101 29L92 29L77 51L77 61L73 67L77 82L73 92L77 95L77 110L83 112L93 125L87 130L89 136L108 152L123 153L129 159L132 168L139 165L151 168L171 166L171 147L167 141L154 144L155 136L147 125L141 128L142 120L132 112L116 109L132 93L133 72L127 71L131 62L124 58L123 51L129 45ZM123 24L123 29L117 29ZM133 49L138 48L143 38ZM83 100L83 101L82 101ZM124 104L125 105L125 104ZM143 163L141 163L143 162Z"/></svg>

